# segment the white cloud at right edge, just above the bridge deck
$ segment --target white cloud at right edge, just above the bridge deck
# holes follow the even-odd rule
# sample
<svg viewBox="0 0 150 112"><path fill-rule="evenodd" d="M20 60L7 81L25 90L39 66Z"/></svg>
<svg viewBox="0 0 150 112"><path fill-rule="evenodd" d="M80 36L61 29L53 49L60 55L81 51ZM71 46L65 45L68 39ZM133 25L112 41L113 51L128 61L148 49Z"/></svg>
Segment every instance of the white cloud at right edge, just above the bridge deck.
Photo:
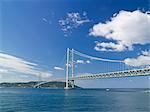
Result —
<svg viewBox="0 0 150 112"><path fill-rule="evenodd" d="M149 66L150 65L150 51L143 51L137 58L127 58L124 60L126 65L130 66Z"/></svg>

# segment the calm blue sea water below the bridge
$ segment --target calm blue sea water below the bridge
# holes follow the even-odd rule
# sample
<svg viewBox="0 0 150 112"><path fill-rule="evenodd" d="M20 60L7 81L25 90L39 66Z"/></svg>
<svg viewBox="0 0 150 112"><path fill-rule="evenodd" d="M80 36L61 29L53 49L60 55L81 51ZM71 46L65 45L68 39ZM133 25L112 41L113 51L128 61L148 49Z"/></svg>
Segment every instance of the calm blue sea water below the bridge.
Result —
<svg viewBox="0 0 150 112"><path fill-rule="evenodd" d="M0 88L0 112L150 112L148 91Z"/></svg>

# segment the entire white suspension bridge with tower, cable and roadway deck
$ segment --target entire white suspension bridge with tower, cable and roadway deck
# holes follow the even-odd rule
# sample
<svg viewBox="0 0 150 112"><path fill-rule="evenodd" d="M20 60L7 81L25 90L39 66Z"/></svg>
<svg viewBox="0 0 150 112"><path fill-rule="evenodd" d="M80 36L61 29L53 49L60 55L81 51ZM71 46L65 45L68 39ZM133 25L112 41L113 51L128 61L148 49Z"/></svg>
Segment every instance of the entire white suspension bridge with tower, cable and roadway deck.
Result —
<svg viewBox="0 0 150 112"><path fill-rule="evenodd" d="M150 67L142 67L142 68L128 68L125 69L125 67L122 67L123 70L113 71L113 72L103 72L103 73L81 73L80 75L75 75L74 72L74 54L92 59L92 60L99 60L103 62L109 62L109 63L124 63L124 61L120 60L110 60L110 59L103 59L98 58L94 56L89 56L87 54L83 54L81 52L78 52L74 49L67 49L67 62L66 62L66 77L65 78L59 78L55 80L49 80L49 81L41 81L38 84L36 84L34 87L38 87L42 84L53 82L53 81L62 81L66 82L65 89L72 89L74 88L74 81L75 80L90 80L90 79L101 79L101 78L123 78L123 77L133 77L133 76L150 76Z"/></svg>

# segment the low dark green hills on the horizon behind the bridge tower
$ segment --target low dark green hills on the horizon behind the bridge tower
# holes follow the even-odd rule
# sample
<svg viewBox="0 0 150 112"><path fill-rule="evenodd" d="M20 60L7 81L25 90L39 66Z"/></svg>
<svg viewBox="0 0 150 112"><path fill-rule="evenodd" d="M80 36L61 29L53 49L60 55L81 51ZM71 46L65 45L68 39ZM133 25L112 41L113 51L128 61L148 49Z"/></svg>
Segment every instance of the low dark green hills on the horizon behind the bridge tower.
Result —
<svg viewBox="0 0 150 112"><path fill-rule="evenodd" d="M31 81L31 82L16 82L16 83L0 83L0 87L14 87L14 88L33 88L39 82ZM65 82L48 82L45 84L41 84L39 88L64 88ZM75 88L80 88L75 85Z"/></svg>

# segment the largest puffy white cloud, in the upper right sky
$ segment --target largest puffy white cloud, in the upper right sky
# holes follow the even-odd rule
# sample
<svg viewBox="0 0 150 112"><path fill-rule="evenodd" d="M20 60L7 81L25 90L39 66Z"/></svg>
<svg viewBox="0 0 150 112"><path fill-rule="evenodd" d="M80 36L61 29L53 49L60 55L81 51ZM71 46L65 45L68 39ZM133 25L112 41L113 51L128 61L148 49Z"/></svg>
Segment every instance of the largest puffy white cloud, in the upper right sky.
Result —
<svg viewBox="0 0 150 112"><path fill-rule="evenodd" d="M150 44L150 13L136 10L120 11L106 21L98 23L90 30L90 35L100 36L114 42L97 42L98 51L133 50L135 44Z"/></svg>

